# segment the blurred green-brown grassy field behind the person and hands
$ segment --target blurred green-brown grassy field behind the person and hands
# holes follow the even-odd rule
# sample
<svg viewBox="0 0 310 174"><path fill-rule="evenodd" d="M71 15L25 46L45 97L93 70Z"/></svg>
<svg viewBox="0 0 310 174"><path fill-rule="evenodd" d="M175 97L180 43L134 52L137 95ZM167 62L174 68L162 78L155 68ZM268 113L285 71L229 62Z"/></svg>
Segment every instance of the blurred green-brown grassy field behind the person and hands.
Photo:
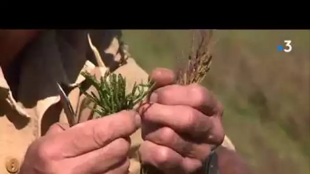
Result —
<svg viewBox="0 0 310 174"><path fill-rule="evenodd" d="M188 53L191 31L124 30L123 40L150 72ZM292 40L290 53L277 45ZM217 30L203 85L224 104L224 127L256 173L309 173L310 31Z"/></svg>

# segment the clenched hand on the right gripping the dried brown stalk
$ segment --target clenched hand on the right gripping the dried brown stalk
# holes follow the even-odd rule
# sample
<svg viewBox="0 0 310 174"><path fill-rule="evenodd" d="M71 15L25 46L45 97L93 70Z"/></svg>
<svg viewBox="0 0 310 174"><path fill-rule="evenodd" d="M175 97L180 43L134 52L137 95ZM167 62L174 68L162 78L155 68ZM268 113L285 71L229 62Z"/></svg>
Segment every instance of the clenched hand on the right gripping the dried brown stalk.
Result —
<svg viewBox="0 0 310 174"><path fill-rule="evenodd" d="M157 90L139 109L141 160L164 173L193 173L224 140L222 105L199 84L173 84L170 70L157 69Z"/></svg>

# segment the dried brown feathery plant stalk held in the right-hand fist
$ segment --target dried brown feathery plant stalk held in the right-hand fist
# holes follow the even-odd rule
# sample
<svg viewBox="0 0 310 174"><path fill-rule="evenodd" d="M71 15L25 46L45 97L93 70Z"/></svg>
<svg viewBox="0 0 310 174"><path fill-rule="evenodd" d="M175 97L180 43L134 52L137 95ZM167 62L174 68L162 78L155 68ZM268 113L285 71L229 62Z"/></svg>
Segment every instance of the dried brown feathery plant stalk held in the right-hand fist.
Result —
<svg viewBox="0 0 310 174"><path fill-rule="evenodd" d="M193 31L190 54L187 57L177 57L176 60L176 83L183 85L200 83L210 71L212 55L209 46L212 34L212 30ZM161 172L156 167L142 164L140 173L160 174Z"/></svg>

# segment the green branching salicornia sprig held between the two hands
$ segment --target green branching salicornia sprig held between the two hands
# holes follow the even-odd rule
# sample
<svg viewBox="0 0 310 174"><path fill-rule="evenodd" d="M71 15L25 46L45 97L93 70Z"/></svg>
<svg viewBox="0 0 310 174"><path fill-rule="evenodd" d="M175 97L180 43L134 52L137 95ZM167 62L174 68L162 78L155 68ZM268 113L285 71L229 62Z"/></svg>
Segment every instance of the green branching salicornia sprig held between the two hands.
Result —
<svg viewBox="0 0 310 174"><path fill-rule="evenodd" d="M81 91L95 104L92 108L100 117L113 114L121 110L133 109L136 104L141 102L150 92L153 81L147 83L135 83L130 93L126 94L126 78L121 74L110 73L107 71L100 80L88 72L81 73L90 85L94 86L97 95L90 94L81 88Z"/></svg>

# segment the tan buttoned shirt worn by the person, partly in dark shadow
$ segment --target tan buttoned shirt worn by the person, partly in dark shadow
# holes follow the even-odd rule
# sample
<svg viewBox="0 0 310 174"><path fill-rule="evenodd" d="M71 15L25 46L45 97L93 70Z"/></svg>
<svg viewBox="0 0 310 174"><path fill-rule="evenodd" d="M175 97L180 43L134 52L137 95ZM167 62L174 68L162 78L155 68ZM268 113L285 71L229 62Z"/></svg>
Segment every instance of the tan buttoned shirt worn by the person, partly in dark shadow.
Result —
<svg viewBox="0 0 310 174"><path fill-rule="evenodd" d="M78 115L87 112L81 104L83 96L74 84L84 81L80 75L82 70L101 75L106 71L102 62L95 61L96 53L89 45L87 33L103 64L126 77L127 90L131 90L135 81L147 80L147 73L123 50L118 31L44 32L24 49L11 69L0 69L0 173L18 171L27 148L35 139L56 122L67 123L56 82L71 86L68 96ZM130 170L138 174L140 164L136 151L142 142L141 130L131 138ZM227 138L223 144L234 149Z"/></svg>

